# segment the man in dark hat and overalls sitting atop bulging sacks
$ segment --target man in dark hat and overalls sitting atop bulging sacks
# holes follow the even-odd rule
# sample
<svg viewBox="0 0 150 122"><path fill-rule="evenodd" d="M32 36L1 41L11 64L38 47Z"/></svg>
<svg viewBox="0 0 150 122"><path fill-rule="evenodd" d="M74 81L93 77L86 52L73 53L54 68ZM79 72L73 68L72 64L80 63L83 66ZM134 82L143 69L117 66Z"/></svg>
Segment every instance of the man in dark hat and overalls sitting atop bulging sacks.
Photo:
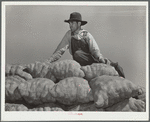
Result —
<svg viewBox="0 0 150 122"><path fill-rule="evenodd" d="M73 12L70 14L70 19L65 22L69 23L70 30L65 34L54 54L69 45L70 54L81 66L98 62L105 63L93 36L81 28L87 23L87 21L82 21L81 14Z"/></svg>

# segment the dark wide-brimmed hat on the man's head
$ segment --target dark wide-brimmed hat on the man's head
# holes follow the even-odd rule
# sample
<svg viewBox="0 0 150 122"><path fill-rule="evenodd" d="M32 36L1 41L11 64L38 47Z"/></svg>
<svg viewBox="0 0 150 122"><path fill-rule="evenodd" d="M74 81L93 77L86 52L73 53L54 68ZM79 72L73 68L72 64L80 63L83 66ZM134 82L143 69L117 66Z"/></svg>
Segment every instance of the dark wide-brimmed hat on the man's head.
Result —
<svg viewBox="0 0 150 122"><path fill-rule="evenodd" d="M73 12L70 14L70 19L69 20L65 20L65 22L70 22L70 21L80 21L81 22L81 26L85 25L87 23L87 21L82 21L82 16L80 13L78 12Z"/></svg>

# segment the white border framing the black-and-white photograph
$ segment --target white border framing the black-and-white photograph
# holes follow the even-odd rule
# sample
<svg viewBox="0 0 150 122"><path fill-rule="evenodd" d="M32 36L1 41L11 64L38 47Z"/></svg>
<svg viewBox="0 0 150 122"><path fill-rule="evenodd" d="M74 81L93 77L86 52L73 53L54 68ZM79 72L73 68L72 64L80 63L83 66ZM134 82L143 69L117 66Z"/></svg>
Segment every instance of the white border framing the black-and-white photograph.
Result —
<svg viewBox="0 0 150 122"><path fill-rule="evenodd" d="M6 112L5 106L5 10L6 5L78 5L78 6L146 6L146 112ZM1 120L2 121L59 121L59 120L148 120L149 119L149 32L148 32L148 2L2 2L1 4Z"/></svg>

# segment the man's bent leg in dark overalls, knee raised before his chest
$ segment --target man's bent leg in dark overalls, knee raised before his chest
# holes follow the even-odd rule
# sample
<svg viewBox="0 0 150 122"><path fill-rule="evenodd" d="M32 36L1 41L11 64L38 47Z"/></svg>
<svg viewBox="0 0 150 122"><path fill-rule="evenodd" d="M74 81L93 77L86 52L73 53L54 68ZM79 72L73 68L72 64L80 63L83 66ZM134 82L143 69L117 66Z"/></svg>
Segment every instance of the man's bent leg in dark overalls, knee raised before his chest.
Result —
<svg viewBox="0 0 150 122"><path fill-rule="evenodd" d="M93 57L83 52L82 50L78 50L75 52L73 59L77 61L81 66L91 65L92 63L98 63L96 62Z"/></svg>

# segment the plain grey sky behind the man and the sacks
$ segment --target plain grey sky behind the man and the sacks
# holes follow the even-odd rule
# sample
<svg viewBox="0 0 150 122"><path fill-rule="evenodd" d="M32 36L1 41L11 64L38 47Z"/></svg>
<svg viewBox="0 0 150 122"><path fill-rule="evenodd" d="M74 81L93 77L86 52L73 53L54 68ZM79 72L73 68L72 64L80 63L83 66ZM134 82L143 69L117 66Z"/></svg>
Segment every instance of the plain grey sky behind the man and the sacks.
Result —
<svg viewBox="0 0 150 122"><path fill-rule="evenodd" d="M123 67L126 79L146 86L146 7L100 5L7 5L6 64L48 59L69 30L70 13L88 21L104 57ZM60 60L72 59L66 51Z"/></svg>

